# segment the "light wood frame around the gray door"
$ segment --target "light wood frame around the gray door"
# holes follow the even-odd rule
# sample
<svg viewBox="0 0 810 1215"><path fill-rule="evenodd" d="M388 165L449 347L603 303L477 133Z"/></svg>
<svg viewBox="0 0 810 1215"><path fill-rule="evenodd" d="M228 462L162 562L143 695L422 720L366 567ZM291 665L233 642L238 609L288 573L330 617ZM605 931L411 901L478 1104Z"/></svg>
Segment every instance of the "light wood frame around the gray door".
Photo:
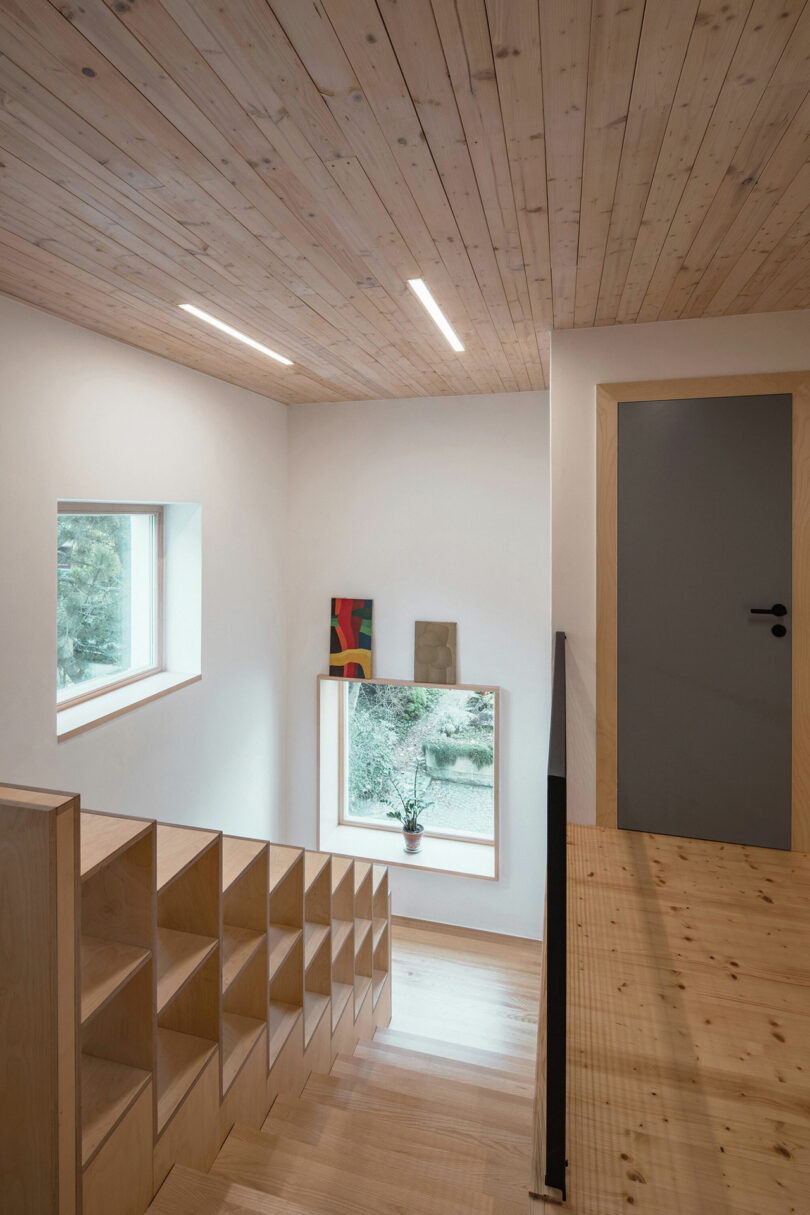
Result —
<svg viewBox="0 0 810 1215"><path fill-rule="evenodd" d="M596 385L596 823L617 820L618 403L793 399L792 849L810 852L810 372Z"/></svg>

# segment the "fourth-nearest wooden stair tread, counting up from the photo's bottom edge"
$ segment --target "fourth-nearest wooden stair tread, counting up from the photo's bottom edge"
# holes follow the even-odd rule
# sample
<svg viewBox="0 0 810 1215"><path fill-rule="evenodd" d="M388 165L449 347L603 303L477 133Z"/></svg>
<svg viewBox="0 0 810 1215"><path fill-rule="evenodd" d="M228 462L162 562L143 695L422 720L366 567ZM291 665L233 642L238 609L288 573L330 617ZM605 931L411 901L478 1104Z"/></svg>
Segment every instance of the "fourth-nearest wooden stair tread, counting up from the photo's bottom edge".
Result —
<svg viewBox="0 0 810 1215"><path fill-rule="evenodd" d="M313 1073L304 1089L304 1097L339 1109L386 1115L401 1126L404 1135L413 1125L414 1117L418 1117L421 1126L431 1129L437 1135L455 1131L475 1136L483 1130L487 1132L488 1142L499 1146L525 1146L531 1140L531 1120L527 1119L519 1126L511 1126L497 1117L493 1118L491 1111L481 1117L471 1103L465 1108L440 1106L431 1100L393 1092L384 1085L340 1076Z"/></svg>

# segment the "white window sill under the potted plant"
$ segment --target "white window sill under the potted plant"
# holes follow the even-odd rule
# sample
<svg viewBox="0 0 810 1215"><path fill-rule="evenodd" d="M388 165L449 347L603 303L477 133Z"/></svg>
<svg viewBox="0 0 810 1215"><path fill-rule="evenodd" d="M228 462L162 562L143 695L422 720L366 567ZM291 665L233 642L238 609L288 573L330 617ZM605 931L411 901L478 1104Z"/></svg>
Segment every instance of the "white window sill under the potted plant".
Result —
<svg viewBox="0 0 810 1215"><path fill-rule="evenodd" d="M458 874L463 877L498 880L498 849L491 843L468 840L437 840L425 832L421 852L406 853L398 831L375 831L345 824L327 829L321 825L318 847L358 860L376 860L404 869L423 869L432 874Z"/></svg>

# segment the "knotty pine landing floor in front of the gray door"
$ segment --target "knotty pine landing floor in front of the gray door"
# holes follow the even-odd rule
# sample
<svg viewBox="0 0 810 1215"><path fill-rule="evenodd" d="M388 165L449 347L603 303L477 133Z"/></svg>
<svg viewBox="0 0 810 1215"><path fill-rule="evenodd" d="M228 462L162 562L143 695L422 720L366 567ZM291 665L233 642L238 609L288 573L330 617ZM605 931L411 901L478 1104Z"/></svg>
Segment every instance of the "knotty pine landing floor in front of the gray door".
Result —
<svg viewBox="0 0 810 1215"><path fill-rule="evenodd" d="M806 1215L810 855L568 842L567 1209Z"/></svg>

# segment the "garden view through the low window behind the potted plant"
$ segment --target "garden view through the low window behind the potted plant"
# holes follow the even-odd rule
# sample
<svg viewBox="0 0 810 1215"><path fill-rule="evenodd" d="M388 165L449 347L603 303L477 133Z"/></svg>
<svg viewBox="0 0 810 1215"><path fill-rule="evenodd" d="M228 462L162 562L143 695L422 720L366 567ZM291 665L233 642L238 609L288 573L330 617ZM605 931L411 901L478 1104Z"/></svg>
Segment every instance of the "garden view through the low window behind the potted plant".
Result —
<svg viewBox="0 0 810 1215"><path fill-rule="evenodd" d="M426 832L493 842L495 713L492 689L341 680L340 823L400 830L415 784Z"/></svg>

